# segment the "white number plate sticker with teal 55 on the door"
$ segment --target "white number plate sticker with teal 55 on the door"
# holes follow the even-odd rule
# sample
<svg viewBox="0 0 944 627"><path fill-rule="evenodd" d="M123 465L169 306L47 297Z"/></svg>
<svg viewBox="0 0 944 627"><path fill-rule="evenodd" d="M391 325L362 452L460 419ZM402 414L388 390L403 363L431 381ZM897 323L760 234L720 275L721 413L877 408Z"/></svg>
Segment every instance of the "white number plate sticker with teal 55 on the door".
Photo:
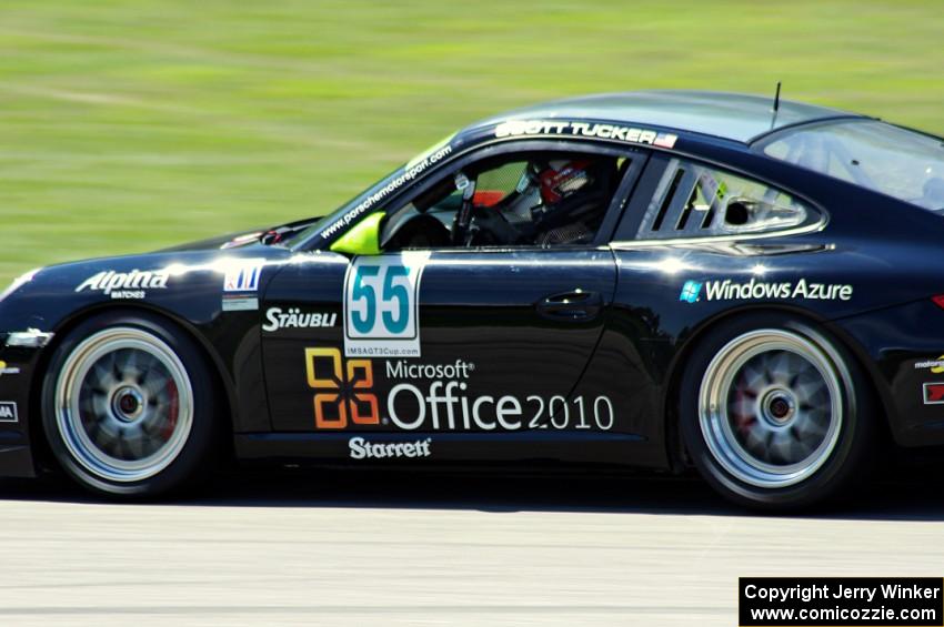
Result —
<svg viewBox="0 0 944 627"><path fill-rule="evenodd" d="M344 275L344 354L420 356L420 279L430 254L356 257Z"/></svg>

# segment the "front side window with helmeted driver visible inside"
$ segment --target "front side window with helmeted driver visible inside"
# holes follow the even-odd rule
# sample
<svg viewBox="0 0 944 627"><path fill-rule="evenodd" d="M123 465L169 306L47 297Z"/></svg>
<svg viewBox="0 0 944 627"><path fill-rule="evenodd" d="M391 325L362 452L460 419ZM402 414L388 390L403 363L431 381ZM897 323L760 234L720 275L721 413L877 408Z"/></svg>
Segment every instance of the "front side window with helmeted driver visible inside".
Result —
<svg viewBox="0 0 944 627"><path fill-rule="evenodd" d="M513 153L450 172L389 212L384 251L591 244L629 158Z"/></svg>

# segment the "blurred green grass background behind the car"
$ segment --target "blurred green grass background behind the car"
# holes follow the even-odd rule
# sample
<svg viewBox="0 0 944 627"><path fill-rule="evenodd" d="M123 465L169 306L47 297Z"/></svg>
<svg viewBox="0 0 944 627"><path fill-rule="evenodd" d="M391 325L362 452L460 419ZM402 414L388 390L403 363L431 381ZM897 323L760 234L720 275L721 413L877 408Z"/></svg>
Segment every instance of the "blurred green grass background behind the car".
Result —
<svg viewBox="0 0 944 627"><path fill-rule="evenodd" d="M320 215L475 119L772 93L944 133L944 3L0 0L0 283Z"/></svg>

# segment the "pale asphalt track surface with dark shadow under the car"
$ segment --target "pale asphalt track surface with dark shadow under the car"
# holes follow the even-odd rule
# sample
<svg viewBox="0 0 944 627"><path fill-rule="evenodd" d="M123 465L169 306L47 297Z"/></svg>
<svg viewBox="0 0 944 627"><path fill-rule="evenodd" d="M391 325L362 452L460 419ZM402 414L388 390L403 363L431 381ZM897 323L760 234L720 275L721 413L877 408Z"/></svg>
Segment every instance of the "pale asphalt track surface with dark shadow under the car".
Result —
<svg viewBox="0 0 944 627"><path fill-rule="evenodd" d="M3 481L0 625L732 626L739 576L944 575L942 476L791 517L651 476L239 473L135 505Z"/></svg>

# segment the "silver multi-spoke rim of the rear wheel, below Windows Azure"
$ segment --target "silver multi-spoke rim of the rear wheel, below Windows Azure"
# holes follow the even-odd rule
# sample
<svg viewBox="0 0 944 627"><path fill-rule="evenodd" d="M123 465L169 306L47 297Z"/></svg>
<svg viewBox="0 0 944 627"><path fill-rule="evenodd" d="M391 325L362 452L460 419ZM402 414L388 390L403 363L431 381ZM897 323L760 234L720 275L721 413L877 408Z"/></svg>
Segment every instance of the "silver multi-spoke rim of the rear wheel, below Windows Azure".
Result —
<svg viewBox="0 0 944 627"><path fill-rule="evenodd" d="M699 422L712 456L752 486L797 484L826 463L843 423L842 361L785 330L740 335L711 361Z"/></svg>

